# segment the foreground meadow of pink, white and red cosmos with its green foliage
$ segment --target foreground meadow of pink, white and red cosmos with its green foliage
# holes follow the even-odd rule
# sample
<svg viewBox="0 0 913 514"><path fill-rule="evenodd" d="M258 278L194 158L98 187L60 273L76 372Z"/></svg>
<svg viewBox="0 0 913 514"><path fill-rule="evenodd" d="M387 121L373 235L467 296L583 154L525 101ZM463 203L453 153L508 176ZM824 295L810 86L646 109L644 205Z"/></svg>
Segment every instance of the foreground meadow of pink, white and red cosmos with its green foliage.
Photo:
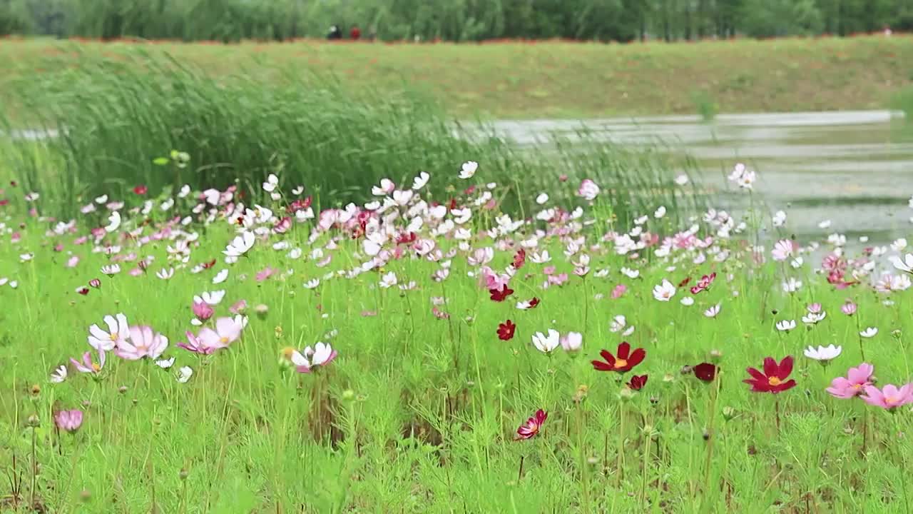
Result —
<svg viewBox="0 0 913 514"><path fill-rule="evenodd" d="M913 511L906 240L484 161L291 177L0 187L0 510Z"/></svg>

